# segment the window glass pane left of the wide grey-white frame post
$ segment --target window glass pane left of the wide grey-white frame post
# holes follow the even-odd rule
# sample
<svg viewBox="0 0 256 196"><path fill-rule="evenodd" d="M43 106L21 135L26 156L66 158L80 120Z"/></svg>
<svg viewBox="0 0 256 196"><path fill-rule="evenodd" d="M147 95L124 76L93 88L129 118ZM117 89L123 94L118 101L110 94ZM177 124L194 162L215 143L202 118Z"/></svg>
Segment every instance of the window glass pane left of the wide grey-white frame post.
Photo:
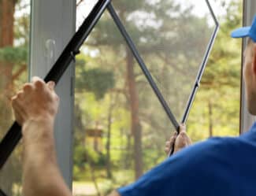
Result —
<svg viewBox="0 0 256 196"><path fill-rule="evenodd" d="M13 123L10 98L28 79L30 1L0 2L0 138ZM0 172L2 190L20 195L21 151L18 147Z"/></svg>

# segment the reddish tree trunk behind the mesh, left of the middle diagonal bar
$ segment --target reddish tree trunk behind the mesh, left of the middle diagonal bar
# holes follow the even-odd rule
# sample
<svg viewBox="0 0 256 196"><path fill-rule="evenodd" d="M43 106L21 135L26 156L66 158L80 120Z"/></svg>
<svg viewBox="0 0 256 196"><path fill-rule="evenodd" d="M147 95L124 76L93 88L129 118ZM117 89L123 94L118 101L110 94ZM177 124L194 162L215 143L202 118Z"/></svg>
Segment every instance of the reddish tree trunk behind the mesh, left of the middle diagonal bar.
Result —
<svg viewBox="0 0 256 196"><path fill-rule="evenodd" d="M131 128L134 139L135 178L143 174L142 130L139 121L139 96L135 84L134 61L131 51L126 49L126 66L128 75L128 91L130 95Z"/></svg>

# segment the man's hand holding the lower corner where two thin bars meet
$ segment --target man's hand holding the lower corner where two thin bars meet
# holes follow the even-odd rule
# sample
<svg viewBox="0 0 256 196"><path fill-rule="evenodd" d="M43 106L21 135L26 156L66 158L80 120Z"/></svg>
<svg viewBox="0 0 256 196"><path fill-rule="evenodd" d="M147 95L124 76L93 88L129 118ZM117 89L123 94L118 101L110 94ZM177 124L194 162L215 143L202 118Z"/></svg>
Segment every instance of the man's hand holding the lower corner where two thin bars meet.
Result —
<svg viewBox="0 0 256 196"><path fill-rule="evenodd" d="M173 153L178 152L184 147L190 146L192 144L191 139L187 136L186 127L184 125L180 125L180 134L177 135L177 132L169 139L169 141L165 142L165 153L170 155L174 144Z"/></svg>

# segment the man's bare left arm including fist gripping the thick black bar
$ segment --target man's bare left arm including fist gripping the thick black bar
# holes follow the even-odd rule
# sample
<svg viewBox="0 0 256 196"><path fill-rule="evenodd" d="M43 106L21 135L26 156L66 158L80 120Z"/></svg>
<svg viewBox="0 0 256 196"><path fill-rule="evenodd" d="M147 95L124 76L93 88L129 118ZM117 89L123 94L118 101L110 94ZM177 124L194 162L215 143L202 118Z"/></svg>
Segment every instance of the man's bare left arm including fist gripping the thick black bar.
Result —
<svg viewBox="0 0 256 196"><path fill-rule="evenodd" d="M54 83L35 78L13 97L13 110L24 139L25 196L71 196L58 169L54 150L54 118L58 96Z"/></svg>

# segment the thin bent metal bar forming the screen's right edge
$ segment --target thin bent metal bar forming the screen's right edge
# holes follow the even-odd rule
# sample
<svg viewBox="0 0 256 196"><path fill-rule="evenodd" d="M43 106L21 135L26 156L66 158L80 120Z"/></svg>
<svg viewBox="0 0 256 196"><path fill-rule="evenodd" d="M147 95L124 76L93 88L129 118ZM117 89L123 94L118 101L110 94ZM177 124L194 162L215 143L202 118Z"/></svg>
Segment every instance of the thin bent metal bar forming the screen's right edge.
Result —
<svg viewBox="0 0 256 196"><path fill-rule="evenodd" d="M183 118L181 120L181 123L183 123L183 124L187 121L187 116L188 116L188 114L189 114L189 112L191 110L192 103L195 100L195 94L198 91L198 87L200 86L200 81L202 79L202 74L203 74L203 72L204 72L204 70L206 68L206 63L207 63L207 60L208 60L208 58L210 56L210 51L213 48L213 43L214 43L214 41L216 39L217 31L219 30L219 27L220 27L220 25L219 25L219 23L217 21L217 18L215 16L214 12L213 12L213 9L210 6L210 2L208 0L206 0L206 4L207 4L208 8L210 9L210 13L211 13L211 15L213 17L213 20L214 20L214 23L215 23L216 27L215 27L215 29L213 31L213 34L211 35L210 43L207 46L206 54L205 54L205 56L203 58L202 65L201 65L201 67L198 70L198 76L195 79L195 84L194 84L194 87L193 87L193 91L191 92L191 95L188 98L187 107L186 107L186 109L184 111L184 116L183 116Z"/></svg>

